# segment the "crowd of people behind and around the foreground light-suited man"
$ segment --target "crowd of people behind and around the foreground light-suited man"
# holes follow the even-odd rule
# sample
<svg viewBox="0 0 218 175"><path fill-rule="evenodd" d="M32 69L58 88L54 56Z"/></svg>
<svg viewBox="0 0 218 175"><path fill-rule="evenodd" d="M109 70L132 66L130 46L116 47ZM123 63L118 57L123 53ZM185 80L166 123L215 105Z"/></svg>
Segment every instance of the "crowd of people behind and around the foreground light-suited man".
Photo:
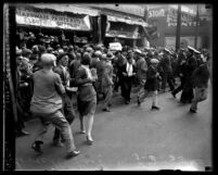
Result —
<svg viewBox="0 0 218 175"><path fill-rule="evenodd" d="M112 109L114 92L120 92L124 103L131 102L132 87L137 89L136 104L139 107L152 92L153 110L159 110L157 93L170 91L176 98L181 92L181 103L192 103L190 112L196 112L198 88L206 89L209 78L209 52L192 47L180 49L131 48L114 51L103 45L85 45L82 47L56 43L16 47L16 96L17 96L17 136L28 135L24 130L25 121L30 118L33 96L35 95L35 74L43 70L43 55L54 55L53 72L60 75L65 95L63 96L62 113L69 124L75 118L72 98L77 96L80 132L87 134L89 145L93 142L91 130L95 107L100 101L103 111ZM39 74L39 73L38 73ZM168 85L168 86L167 86ZM169 87L169 88L168 88ZM120 90L119 90L120 89ZM205 95L205 93L204 93ZM205 95L206 96L206 95ZM88 127L85 126L88 116ZM61 134L56 127L53 142L61 146ZM40 142L39 142L40 145ZM34 146L35 150L38 146ZM74 152L76 154L77 152Z"/></svg>

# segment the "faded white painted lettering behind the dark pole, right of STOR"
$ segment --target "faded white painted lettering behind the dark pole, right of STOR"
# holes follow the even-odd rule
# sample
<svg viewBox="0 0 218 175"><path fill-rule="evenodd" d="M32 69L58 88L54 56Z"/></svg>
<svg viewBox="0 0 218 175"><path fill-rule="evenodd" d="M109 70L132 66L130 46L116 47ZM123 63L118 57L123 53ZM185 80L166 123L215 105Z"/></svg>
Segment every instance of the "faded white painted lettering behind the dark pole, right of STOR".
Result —
<svg viewBox="0 0 218 175"><path fill-rule="evenodd" d="M169 9L167 25L177 26L177 10ZM196 26L195 16L188 13L181 13L181 26Z"/></svg>

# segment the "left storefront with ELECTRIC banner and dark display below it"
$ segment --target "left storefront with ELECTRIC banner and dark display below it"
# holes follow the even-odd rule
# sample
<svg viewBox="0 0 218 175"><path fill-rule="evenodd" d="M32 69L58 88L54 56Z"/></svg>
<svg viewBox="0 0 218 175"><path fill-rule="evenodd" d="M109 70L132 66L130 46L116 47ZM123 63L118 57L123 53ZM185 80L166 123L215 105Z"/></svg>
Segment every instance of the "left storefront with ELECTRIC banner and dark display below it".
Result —
<svg viewBox="0 0 218 175"><path fill-rule="evenodd" d="M60 7L62 7L60 4ZM62 11L64 9L65 11ZM49 41L63 40L72 45L86 45L92 41L91 24L86 11L77 13L78 8L57 8L55 5L17 5L16 28L17 39L27 40L39 34ZM81 13L84 12L84 13ZM91 15L98 15L92 13ZM23 35L23 36L22 36ZM49 39L48 39L49 38ZM21 42L22 43L22 42Z"/></svg>

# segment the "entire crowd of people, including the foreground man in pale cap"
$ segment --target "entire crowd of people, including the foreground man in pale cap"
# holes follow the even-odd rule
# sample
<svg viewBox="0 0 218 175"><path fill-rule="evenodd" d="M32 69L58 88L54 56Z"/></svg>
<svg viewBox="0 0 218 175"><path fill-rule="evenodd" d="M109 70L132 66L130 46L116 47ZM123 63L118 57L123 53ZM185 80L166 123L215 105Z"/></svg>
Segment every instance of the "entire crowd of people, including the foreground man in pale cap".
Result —
<svg viewBox="0 0 218 175"><path fill-rule="evenodd" d="M70 129L76 117L73 95L77 97L80 133L92 145L95 108L102 101L102 111L110 112L113 93L119 89L124 103L129 104L134 87L139 107L151 92L152 110L161 109L158 92L170 91L176 98L182 91L180 102L191 103L190 112L195 113L197 103L207 98L210 57L206 49L192 47L175 52L124 46L114 51L103 45L57 43L52 48L47 43L16 47L16 63L17 136L28 135L25 121L38 116L40 126L31 148L42 152L43 136L53 124L53 145L64 143L67 158L72 158L79 154Z"/></svg>

